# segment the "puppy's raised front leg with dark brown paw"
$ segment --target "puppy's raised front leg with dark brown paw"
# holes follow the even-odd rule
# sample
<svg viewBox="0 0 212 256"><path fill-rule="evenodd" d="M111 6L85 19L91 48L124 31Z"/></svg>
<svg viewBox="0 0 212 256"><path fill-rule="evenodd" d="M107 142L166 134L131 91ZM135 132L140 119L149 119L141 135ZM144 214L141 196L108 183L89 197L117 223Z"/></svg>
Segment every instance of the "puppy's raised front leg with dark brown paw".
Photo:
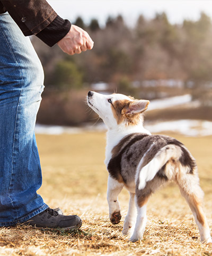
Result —
<svg viewBox="0 0 212 256"><path fill-rule="evenodd" d="M118 224L121 219L118 195L123 188L123 183L118 182L114 178L108 177L107 199L109 205L109 217L112 224Z"/></svg>

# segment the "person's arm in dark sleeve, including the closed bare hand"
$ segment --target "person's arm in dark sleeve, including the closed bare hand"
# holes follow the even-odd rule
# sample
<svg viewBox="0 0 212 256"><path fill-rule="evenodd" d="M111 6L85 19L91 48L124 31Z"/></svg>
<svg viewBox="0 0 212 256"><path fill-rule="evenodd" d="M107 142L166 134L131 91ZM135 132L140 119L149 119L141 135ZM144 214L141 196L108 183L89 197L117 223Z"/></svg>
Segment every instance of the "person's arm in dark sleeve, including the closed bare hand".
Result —
<svg viewBox="0 0 212 256"><path fill-rule="evenodd" d="M2 0L1 3L25 36L36 35L50 47L58 43L70 55L93 47L89 34L60 18L46 0Z"/></svg>

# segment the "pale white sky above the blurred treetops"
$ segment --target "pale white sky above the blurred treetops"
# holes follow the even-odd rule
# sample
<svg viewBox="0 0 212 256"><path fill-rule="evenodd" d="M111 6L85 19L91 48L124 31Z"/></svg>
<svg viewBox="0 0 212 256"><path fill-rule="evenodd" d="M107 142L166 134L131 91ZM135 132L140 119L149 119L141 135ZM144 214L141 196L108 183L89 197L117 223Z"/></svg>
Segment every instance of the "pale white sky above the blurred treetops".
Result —
<svg viewBox="0 0 212 256"><path fill-rule="evenodd" d="M74 22L81 16L85 23L98 19L104 26L108 16L121 14L126 24L134 25L140 14L152 19L155 13L165 12L172 24L184 19L198 20L205 12L212 20L212 0L47 0L64 19Z"/></svg>

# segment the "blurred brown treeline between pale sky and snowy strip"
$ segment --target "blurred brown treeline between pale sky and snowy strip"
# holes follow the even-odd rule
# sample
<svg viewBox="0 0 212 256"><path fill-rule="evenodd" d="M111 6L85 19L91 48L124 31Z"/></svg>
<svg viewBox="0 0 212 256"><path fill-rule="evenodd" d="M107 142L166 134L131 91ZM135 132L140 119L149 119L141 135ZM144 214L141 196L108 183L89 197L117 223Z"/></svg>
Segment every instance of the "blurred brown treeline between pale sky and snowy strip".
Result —
<svg viewBox="0 0 212 256"><path fill-rule="evenodd" d="M212 25L205 13L198 21L180 25L170 24L165 13L152 20L140 15L134 28L122 16L109 17L104 28L95 19L89 25L82 18L74 23L90 33L91 51L67 56L57 46L50 49L33 40L48 86L80 88L98 81L118 85L123 80L170 78L198 86L212 80Z"/></svg>

